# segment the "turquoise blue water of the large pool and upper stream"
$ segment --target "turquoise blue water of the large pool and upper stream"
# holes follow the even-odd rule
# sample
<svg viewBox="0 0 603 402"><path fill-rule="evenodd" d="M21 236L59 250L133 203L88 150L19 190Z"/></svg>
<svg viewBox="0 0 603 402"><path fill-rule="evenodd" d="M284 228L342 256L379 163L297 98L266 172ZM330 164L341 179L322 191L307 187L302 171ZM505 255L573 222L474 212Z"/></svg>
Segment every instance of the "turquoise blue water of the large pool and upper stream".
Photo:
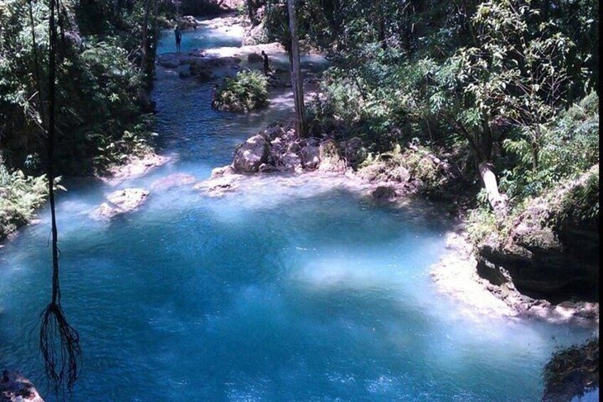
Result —
<svg viewBox="0 0 603 402"><path fill-rule="evenodd" d="M238 43L203 30L183 38L190 48ZM117 187L67 181L60 194L63 306L84 351L74 401L540 400L550 353L591 332L466 317L428 275L445 218L270 179L223 198L153 191L169 174L206 179L235 144L290 113L284 92L270 110L216 112L210 86L160 68L155 130L173 161ZM143 208L88 218L127 186L151 189ZM0 249L0 366L44 393L48 211L40 218Z"/></svg>

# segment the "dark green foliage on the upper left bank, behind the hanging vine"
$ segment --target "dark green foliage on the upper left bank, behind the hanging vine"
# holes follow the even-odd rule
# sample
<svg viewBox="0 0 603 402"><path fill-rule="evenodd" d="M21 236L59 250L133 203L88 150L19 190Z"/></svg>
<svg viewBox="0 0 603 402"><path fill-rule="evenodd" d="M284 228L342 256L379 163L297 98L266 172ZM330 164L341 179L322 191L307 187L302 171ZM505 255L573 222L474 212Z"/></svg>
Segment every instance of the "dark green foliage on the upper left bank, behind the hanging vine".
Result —
<svg viewBox="0 0 603 402"><path fill-rule="evenodd" d="M138 51L144 2L118 9L109 0L63 3L70 26L58 49L56 167L62 174L92 174L136 152L147 136L149 118L142 113L149 98ZM34 48L29 4L0 5L0 143L7 166L38 174L46 157L38 85L46 99L48 7L31 2ZM149 33L152 42L150 23Z"/></svg>

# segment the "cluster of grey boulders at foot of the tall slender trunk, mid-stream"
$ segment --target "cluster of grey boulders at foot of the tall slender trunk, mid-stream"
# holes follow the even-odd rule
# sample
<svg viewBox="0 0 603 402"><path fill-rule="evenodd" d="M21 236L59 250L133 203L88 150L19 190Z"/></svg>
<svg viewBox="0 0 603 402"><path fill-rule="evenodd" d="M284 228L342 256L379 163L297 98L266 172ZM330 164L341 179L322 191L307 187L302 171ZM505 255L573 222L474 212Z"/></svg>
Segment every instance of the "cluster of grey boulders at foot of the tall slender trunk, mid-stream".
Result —
<svg viewBox="0 0 603 402"><path fill-rule="evenodd" d="M431 154L423 154L412 145L405 150L416 164L434 177L451 176L449 164ZM406 154L405 154L406 155ZM424 181L412 169L402 165L399 156L386 154L368 164L368 152L359 137L338 140L327 134L299 137L291 120L272 125L236 147L233 162L215 169L207 183L198 187L223 194L235 189L233 175L257 173L339 174L362 181L363 188L378 201L396 201L424 188Z"/></svg>

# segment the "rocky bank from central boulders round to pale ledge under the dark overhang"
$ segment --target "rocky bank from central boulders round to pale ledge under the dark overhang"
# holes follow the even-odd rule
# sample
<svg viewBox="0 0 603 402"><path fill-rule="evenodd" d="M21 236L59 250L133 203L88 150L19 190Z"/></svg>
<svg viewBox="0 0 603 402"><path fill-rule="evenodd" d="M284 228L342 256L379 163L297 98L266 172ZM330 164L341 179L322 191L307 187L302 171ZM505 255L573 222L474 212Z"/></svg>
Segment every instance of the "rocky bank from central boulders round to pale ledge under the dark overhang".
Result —
<svg viewBox="0 0 603 402"><path fill-rule="evenodd" d="M405 156L400 156L405 155ZM421 194L425 181L417 171L429 171L438 183L457 180L450 163L421 152L409 144L394 157L366 163L368 154L358 137L337 141L333 137L301 138L291 121L272 125L248 138L234 152L233 162L213 170L210 179L196 184L210 196L224 196L230 191L254 186L255 181L271 176L294 185L297 182L325 181L343 186L375 201L402 203ZM396 159L397 158L397 159ZM422 166L405 167L403 158ZM393 162L392 162L393 161ZM407 162L407 161L406 161ZM395 166L394 166L395 165ZM427 194L431 194L427 191ZM442 197L439 197L441 199ZM449 203L444 200L442 205ZM448 208L458 213L457 206ZM430 275L439 289L466 306L467 314L498 314L506 317L535 317L548 322L594 326L599 322L599 303L575 300L551 302L520 292L509 277L493 281L484 275L484 253L466 238L462 220L457 231L447 234L449 252L432 267Z"/></svg>

